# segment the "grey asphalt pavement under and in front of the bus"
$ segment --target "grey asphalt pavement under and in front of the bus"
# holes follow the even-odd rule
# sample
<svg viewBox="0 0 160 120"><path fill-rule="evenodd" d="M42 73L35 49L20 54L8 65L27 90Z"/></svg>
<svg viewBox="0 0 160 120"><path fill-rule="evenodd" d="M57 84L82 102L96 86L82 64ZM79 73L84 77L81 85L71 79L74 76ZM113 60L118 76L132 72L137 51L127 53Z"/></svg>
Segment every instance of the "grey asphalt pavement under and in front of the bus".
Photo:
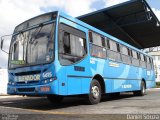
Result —
<svg viewBox="0 0 160 120"><path fill-rule="evenodd" d="M60 105L54 105L45 97L0 96L0 114L2 120L159 120L160 89L150 89L142 97L132 93L116 98L104 96L97 105L87 105L79 97L67 97Z"/></svg>

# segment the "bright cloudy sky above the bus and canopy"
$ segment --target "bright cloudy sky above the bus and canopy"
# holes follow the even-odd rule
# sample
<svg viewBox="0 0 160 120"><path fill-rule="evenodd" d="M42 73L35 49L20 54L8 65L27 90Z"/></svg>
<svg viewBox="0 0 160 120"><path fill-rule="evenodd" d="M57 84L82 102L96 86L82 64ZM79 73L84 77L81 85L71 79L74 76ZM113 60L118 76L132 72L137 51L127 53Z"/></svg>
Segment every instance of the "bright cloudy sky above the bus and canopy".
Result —
<svg viewBox="0 0 160 120"><path fill-rule="evenodd" d="M12 34L15 26L37 15L62 11L73 17L128 0L0 0L0 36ZM160 20L160 0L147 0ZM0 51L0 67L7 68L7 54Z"/></svg>

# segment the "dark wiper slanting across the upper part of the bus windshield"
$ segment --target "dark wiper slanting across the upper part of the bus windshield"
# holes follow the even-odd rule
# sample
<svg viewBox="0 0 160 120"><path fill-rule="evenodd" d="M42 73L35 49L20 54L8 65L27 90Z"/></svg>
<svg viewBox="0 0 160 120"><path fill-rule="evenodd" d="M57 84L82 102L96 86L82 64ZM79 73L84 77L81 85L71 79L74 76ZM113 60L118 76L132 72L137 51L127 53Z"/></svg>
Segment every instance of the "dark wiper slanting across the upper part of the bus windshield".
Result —
<svg viewBox="0 0 160 120"><path fill-rule="evenodd" d="M41 32L43 26L44 26L43 23L41 23L41 24L39 24L38 28L35 29L30 40L28 41L30 44L33 44L34 40L36 39L36 36Z"/></svg>

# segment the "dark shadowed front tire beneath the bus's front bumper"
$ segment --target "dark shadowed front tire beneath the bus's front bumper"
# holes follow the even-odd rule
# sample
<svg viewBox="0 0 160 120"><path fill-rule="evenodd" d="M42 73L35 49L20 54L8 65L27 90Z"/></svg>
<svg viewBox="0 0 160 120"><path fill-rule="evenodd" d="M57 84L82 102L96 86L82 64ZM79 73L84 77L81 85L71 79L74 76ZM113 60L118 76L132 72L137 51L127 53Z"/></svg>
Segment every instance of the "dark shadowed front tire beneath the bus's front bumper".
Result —
<svg viewBox="0 0 160 120"><path fill-rule="evenodd" d="M60 95L47 95L47 98L53 104L60 104L64 97Z"/></svg>

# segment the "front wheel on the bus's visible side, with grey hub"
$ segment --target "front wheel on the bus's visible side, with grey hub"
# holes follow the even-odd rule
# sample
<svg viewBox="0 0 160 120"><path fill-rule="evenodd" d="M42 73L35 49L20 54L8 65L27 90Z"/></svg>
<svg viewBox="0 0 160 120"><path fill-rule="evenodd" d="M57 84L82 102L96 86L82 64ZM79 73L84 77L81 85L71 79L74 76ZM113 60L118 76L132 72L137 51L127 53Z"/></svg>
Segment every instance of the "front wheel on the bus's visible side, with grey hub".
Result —
<svg viewBox="0 0 160 120"><path fill-rule="evenodd" d="M93 79L90 85L90 93L88 94L88 103L90 105L98 104L101 100L101 85L100 83L96 80Z"/></svg>

